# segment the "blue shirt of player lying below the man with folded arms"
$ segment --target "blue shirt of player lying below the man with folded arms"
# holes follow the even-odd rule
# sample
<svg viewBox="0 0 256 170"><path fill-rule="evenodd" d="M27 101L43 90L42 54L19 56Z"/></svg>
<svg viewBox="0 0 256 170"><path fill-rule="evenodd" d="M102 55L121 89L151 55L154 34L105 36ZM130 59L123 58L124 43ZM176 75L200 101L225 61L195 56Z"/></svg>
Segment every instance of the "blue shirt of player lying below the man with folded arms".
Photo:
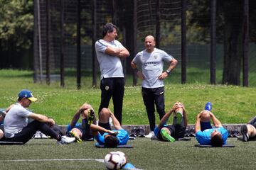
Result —
<svg viewBox="0 0 256 170"><path fill-rule="evenodd" d="M119 140L119 144L118 145L127 145L127 142L129 140L129 135L128 132L124 129L121 130L113 130L114 132L118 132L117 134L117 139ZM104 145L105 144L105 135L109 135L109 133L105 132L103 135L100 135L100 133L98 133L95 137L95 139L97 140L97 142L100 145Z"/></svg>

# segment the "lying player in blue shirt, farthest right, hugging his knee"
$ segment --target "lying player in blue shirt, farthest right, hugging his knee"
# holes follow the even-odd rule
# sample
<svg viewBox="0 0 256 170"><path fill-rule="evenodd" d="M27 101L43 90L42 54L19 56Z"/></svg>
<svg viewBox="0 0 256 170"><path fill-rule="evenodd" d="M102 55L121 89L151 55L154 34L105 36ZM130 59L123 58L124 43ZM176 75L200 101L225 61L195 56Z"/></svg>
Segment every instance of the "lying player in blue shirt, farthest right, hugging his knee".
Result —
<svg viewBox="0 0 256 170"><path fill-rule="evenodd" d="M213 120L214 128L210 125ZM220 120L210 111L201 111L196 116L196 140L201 145L212 145L213 147L222 147L228 139L228 130L223 128Z"/></svg>

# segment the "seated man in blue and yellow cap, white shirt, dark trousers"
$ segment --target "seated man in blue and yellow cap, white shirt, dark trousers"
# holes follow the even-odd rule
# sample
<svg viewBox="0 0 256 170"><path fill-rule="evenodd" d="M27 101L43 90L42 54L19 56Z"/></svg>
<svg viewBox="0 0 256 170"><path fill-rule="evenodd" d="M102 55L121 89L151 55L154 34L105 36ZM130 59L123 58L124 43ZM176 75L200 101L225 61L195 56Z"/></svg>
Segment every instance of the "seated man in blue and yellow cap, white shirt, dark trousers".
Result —
<svg viewBox="0 0 256 170"><path fill-rule="evenodd" d="M26 89L20 91L18 102L11 106L4 118L4 136L6 137L4 141L26 143L37 130L40 130L56 139L58 144L67 144L70 139L62 137L51 128L55 124L52 118L28 110L31 103L36 100L31 91Z"/></svg>

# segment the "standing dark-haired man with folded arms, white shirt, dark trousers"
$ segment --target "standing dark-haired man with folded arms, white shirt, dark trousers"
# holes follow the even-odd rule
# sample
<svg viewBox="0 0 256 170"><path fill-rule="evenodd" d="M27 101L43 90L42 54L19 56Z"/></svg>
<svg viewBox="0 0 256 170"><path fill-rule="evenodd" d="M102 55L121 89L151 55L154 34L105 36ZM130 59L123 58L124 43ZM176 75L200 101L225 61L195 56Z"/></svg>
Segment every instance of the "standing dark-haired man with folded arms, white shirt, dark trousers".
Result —
<svg viewBox="0 0 256 170"><path fill-rule="evenodd" d="M114 116L122 124L122 105L124 98L124 72L121 59L129 57L128 50L116 40L117 26L107 23L102 28L102 39L95 43L97 60L100 64L100 89L102 108L108 108L112 97Z"/></svg>

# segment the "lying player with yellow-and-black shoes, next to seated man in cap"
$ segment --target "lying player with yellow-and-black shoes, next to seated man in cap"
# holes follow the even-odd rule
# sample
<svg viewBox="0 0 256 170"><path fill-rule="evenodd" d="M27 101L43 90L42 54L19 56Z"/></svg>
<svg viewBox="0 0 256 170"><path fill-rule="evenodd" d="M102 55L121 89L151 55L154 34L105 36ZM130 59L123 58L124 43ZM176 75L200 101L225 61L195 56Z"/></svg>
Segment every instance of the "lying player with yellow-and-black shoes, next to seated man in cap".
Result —
<svg viewBox="0 0 256 170"><path fill-rule="evenodd" d="M75 137L76 142L82 142L82 140L93 138L92 132L90 132L90 124L96 124L94 114L92 106L84 103L75 113L70 125L68 125L67 135ZM80 116L82 118L82 123L77 124Z"/></svg>

